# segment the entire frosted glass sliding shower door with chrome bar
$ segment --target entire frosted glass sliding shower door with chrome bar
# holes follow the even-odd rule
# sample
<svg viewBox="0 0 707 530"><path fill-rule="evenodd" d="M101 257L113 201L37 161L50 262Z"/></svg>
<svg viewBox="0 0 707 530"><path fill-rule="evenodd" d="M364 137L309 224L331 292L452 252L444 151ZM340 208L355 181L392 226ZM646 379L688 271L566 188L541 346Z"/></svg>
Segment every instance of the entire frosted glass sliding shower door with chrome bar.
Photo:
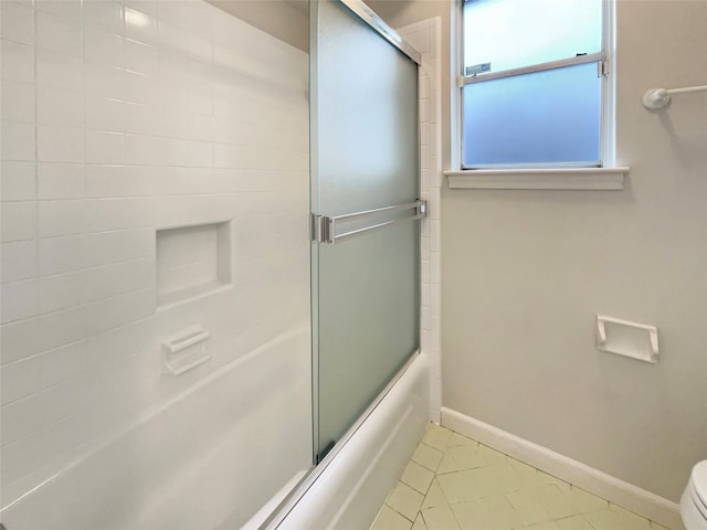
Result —
<svg viewBox="0 0 707 530"><path fill-rule="evenodd" d="M419 346L418 64L360 2L313 2L315 453ZM384 29L383 29L384 32ZM414 52L411 52L414 55Z"/></svg>

